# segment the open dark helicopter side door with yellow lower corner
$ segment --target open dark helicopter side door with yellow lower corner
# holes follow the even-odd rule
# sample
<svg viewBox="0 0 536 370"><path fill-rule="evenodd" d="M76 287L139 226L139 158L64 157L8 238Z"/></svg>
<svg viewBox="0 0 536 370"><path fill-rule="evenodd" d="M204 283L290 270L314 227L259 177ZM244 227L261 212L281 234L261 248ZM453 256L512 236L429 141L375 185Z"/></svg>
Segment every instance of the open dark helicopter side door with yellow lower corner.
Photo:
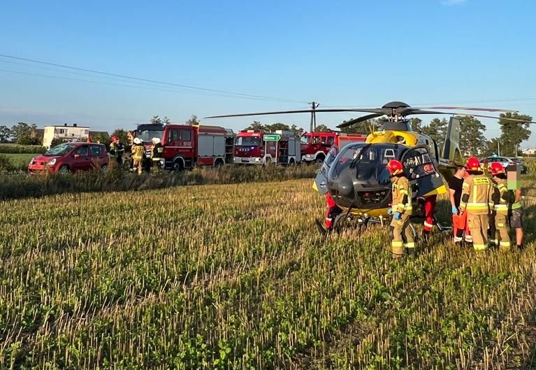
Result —
<svg viewBox="0 0 536 370"><path fill-rule="evenodd" d="M417 185L417 197L447 192L443 179L437 171L437 162L430 155L430 148L427 145L418 145L406 150L400 162L410 183Z"/></svg>

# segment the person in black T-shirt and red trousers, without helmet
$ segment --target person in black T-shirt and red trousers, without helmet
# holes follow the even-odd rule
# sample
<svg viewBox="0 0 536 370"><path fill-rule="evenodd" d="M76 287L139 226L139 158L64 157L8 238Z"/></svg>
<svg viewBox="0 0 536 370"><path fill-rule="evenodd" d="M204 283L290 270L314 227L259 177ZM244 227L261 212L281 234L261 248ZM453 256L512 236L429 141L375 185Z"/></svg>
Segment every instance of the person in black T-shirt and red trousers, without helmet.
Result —
<svg viewBox="0 0 536 370"><path fill-rule="evenodd" d="M456 246L462 246L463 241L472 246L471 232L467 225L467 213L460 214L461 192L463 179L469 176L465 166L457 166L456 173L449 180L449 195L452 208L452 234Z"/></svg>

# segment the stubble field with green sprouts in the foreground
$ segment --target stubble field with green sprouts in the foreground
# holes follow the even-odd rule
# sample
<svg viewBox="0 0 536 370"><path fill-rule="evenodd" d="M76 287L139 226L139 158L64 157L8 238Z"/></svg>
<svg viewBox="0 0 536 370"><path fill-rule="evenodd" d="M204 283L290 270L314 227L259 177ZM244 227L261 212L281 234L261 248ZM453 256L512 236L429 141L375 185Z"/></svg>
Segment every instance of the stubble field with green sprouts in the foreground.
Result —
<svg viewBox="0 0 536 370"><path fill-rule="evenodd" d="M525 250L402 260L311 179L2 201L0 369L533 369L534 183Z"/></svg>

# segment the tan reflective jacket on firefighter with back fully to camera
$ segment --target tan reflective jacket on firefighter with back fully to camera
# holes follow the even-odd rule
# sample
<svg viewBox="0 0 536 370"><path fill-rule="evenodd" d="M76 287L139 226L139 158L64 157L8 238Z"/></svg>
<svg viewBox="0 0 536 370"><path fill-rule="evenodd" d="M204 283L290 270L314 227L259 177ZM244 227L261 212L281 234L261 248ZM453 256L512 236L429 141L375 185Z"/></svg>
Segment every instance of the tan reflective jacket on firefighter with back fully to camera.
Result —
<svg viewBox="0 0 536 370"><path fill-rule="evenodd" d="M493 186L484 173L463 179L460 208L473 215L487 215L493 209Z"/></svg>

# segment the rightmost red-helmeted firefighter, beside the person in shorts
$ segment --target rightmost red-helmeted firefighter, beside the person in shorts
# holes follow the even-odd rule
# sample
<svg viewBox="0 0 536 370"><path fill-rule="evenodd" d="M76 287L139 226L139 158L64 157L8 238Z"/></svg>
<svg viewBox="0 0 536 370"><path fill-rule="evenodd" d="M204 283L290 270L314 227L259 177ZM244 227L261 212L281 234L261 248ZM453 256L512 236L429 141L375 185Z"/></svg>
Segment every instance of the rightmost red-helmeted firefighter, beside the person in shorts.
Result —
<svg viewBox="0 0 536 370"><path fill-rule="evenodd" d="M493 221L495 227L490 227L490 243L495 243L500 250L508 251L510 249L510 237L508 235L508 200L509 193L506 185L505 168L499 162L493 162L488 169L491 173L493 185L493 213L490 218L490 224Z"/></svg>

